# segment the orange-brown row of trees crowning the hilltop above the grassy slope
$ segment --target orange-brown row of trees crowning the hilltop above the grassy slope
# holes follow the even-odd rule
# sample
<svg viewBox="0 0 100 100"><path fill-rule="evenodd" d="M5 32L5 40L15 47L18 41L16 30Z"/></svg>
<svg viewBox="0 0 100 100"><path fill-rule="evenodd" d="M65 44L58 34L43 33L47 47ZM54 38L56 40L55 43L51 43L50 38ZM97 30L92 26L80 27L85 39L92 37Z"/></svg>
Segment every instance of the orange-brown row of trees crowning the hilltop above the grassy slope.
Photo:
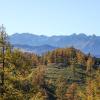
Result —
<svg viewBox="0 0 100 100"><path fill-rule="evenodd" d="M95 65L96 59L91 54L85 55L80 50L74 47L59 48L52 52L48 52L42 57L44 64L56 63L64 67L70 66L73 63L84 67L87 71Z"/></svg>

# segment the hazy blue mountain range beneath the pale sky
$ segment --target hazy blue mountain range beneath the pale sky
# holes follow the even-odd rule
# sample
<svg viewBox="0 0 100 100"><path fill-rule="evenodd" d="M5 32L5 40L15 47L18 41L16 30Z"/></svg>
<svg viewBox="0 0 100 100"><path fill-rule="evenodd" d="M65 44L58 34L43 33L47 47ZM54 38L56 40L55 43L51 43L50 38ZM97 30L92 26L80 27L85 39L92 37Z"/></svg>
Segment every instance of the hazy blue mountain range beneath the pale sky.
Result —
<svg viewBox="0 0 100 100"><path fill-rule="evenodd" d="M44 36L30 33L15 33L9 36L9 41L15 48L42 54L56 48L75 47L84 53L100 55L100 36L84 33L59 36Z"/></svg>

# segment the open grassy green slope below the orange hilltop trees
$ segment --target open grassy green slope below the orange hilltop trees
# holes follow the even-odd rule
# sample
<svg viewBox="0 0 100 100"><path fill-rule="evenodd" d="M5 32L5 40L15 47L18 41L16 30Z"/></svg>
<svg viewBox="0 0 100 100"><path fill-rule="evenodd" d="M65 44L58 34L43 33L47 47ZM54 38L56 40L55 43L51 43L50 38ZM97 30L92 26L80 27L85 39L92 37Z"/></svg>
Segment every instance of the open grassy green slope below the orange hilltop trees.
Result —
<svg viewBox="0 0 100 100"><path fill-rule="evenodd" d="M73 69L70 66L58 68L54 64L49 64L46 67L46 78L56 80L58 77L62 76L66 80L69 78L72 80L80 80L82 78L82 73L84 74L84 72L80 68L77 68L77 66L75 67L74 75Z"/></svg>

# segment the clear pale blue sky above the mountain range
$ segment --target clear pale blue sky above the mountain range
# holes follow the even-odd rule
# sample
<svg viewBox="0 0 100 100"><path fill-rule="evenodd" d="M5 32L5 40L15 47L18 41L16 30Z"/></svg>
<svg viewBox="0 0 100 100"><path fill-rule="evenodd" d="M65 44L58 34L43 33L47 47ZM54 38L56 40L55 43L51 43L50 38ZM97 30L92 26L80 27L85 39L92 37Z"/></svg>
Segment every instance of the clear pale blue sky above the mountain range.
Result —
<svg viewBox="0 0 100 100"><path fill-rule="evenodd" d="M0 0L0 25L9 35L100 36L100 0Z"/></svg>

